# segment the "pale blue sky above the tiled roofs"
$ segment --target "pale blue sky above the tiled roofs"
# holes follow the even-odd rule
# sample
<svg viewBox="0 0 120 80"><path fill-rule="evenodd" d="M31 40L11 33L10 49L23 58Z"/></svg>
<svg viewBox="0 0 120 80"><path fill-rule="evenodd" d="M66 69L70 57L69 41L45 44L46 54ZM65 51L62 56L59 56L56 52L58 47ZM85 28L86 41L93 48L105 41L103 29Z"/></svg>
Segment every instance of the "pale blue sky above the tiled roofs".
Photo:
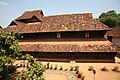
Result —
<svg viewBox="0 0 120 80"><path fill-rule="evenodd" d="M120 0L0 0L0 25L7 27L27 10L43 10L47 16L90 12L98 17L109 10L120 13Z"/></svg>

